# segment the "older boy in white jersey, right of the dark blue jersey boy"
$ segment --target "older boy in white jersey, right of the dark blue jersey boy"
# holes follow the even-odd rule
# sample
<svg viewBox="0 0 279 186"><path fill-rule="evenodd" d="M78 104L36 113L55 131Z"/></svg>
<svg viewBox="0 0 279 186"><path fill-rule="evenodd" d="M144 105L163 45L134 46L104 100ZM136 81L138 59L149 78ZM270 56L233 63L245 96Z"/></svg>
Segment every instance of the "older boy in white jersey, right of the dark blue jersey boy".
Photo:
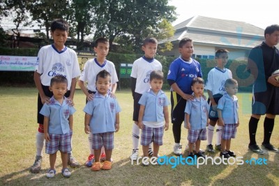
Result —
<svg viewBox="0 0 279 186"><path fill-rule="evenodd" d="M232 78L232 72L229 69L225 68L227 64L229 51L226 49L219 49L215 53L215 59L217 62L217 66L209 71L207 76L207 81L205 85L205 89L209 94L209 126L207 127L207 152L214 152L212 139L214 133L214 127L218 122L218 113L217 113L217 105L218 100L225 94L225 81L228 78ZM217 126L216 129L216 150L221 150L221 136L222 136L222 127Z"/></svg>

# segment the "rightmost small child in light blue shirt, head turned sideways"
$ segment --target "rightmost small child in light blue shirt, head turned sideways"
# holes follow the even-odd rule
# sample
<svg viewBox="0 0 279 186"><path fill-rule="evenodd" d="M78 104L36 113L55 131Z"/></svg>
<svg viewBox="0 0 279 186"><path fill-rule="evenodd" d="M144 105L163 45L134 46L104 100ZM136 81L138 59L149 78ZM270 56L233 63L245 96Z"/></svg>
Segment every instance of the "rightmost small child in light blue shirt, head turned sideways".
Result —
<svg viewBox="0 0 279 186"><path fill-rule="evenodd" d="M231 138L236 136L236 127L239 127L239 103L236 97L237 81L229 78L225 81L226 93L218 101L219 125L223 127L220 157L236 157L231 148Z"/></svg>

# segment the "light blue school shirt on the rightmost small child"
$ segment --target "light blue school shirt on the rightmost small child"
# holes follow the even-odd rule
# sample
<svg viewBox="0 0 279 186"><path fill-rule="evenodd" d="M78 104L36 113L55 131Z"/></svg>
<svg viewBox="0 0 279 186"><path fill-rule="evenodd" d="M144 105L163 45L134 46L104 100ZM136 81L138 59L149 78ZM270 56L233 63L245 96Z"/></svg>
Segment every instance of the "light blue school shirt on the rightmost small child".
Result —
<svg viewBox="0 0 279 186"><path fill-rule="evenodd" d="M236 96L225 93L218 101L217 109L222 110L225 124L236 124L239 121L239 101Z"/></svg>

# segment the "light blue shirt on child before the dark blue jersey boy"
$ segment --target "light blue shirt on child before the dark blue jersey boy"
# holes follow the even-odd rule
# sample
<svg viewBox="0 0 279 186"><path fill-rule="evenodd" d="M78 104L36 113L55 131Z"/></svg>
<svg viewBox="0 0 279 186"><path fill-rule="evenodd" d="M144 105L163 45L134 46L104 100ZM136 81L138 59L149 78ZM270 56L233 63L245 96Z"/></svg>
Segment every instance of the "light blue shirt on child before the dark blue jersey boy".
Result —
<svg viewBox="0 0 279 186"><path fill-rule="evenodd" d="M190 115L190 126L193 130L205 129L207 124L207 113L209 113L209 103L200 96L200 99L188 100L184 113ZM186 127L186 122L184 122Z"/></svg>

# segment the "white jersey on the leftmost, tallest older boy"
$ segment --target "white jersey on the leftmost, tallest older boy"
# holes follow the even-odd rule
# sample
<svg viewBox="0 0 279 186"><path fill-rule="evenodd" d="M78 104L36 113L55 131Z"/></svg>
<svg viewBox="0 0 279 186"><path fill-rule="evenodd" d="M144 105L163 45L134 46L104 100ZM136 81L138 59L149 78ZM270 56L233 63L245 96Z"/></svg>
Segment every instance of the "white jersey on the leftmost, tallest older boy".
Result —
<svg viewBox="0 0 279 186"><path fill-rule="evenodd" d="M56 50L54 45L46 45L38 52L35 71L41 74L40 81L45 86L50 86L54 76L64 76L68 80L68 90L72 78L80 76L80 66L74 50L65 47L62 51Z"/></svg>

